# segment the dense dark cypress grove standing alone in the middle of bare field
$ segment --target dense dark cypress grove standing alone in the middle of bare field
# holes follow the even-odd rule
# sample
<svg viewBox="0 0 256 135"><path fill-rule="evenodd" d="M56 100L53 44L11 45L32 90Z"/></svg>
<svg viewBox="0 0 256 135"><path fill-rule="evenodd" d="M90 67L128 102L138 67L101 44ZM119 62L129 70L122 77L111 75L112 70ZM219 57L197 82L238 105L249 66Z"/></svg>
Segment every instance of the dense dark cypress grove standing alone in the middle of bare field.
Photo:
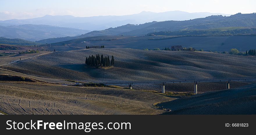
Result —
<svg viewBox="0 0 256 135"><path fill-rule="evenodd" d="M91 67L109 67L113 66L115 63L114 56L112 55L111 60L109 56L97 55L86 57L85 64Z"/></svg>

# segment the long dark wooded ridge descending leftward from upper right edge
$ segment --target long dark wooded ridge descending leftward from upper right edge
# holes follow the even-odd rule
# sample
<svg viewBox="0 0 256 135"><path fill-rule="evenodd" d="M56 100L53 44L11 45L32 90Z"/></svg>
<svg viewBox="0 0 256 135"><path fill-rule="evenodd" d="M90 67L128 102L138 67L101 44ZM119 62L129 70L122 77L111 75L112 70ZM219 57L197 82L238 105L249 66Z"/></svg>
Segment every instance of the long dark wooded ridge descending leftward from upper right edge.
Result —
<svg viewBox="0 0 256 135"><path fill-rule="evenodd" d="M84 37L104 36L104 35L124 35L124 36L141 36L148 33L160 31L182 31L182 30L207 30L214 28L237 29L232 27L256 27L256 14L235 14L231 16L213 15L205 18L197 18L186 21L153 21L150 23L134 25L127 24L116 28L92 31L76 37L50 38L37 41L39 43L55 43ZM223 29L219 29L221 31ZM216 33L217 30L215 30ZM239 33L238 33L239 34ZM243 34L243 33L241 33ZM207 35L207 33L205 33ZM232 34L230 34L232 35Z"/></svg>

